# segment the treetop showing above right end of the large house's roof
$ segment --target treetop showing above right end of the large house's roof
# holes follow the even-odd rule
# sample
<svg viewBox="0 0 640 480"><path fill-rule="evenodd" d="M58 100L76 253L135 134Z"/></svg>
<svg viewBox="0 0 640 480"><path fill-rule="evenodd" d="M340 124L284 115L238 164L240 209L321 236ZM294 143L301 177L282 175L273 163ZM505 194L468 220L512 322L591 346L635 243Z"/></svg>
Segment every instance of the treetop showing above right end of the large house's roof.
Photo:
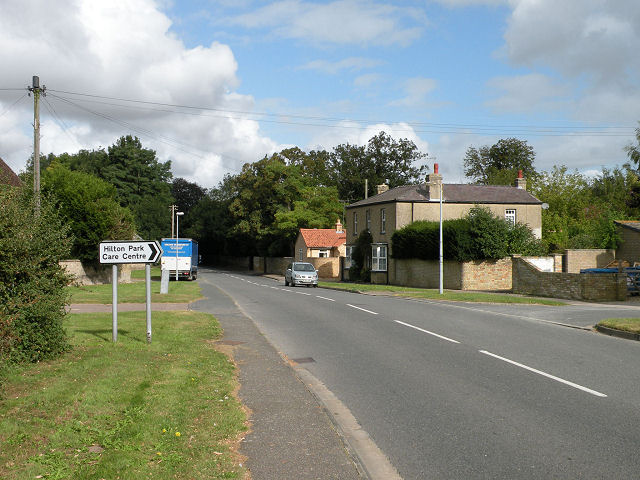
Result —
<svg viewBox="0 0 640 480"><path fill-rule="evenodd" d="M464 158L464 174L481 185L511 185L522 170L523 175L535 180L533 147L526 140L507 138L479 149L469 147Z"/></svg>

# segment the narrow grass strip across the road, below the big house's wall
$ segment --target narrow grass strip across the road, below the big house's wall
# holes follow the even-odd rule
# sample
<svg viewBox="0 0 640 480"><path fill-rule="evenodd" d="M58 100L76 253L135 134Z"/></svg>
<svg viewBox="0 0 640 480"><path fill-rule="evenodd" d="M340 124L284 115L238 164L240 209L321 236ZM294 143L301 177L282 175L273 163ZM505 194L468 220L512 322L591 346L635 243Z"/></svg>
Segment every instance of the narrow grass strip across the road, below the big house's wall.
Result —
<svg viewBox="0 0 640 480"><path fill-rule="evenodd" d="M503 295L500 293L462 292L445 290L442 295L435 289L410 288L396 285L371 285L362 283L320 282L319 286L337 288L350 292L380 292L396 297L425 298L433 300L449 300L456 302L483 302L483 303L519 303L537 305L566 305L564 302L548 298L521 297L516 295Z"/></svg>

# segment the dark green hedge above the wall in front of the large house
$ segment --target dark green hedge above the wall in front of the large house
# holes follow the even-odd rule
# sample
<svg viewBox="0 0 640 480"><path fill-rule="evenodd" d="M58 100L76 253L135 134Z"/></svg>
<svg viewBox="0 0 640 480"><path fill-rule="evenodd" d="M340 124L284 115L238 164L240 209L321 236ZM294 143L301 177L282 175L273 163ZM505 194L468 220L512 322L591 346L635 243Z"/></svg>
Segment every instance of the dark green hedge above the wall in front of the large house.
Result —
<svg viewBox="0 0 640 480"><path fill-rule="evenodd" d="M442 222L443 257L466 262L504 258L512 254L542 255L544 248L527 225L515 226L474 207L465 218ZM394 232L392 256L398 259L438 260L439 222L414 222Z"/></svg>

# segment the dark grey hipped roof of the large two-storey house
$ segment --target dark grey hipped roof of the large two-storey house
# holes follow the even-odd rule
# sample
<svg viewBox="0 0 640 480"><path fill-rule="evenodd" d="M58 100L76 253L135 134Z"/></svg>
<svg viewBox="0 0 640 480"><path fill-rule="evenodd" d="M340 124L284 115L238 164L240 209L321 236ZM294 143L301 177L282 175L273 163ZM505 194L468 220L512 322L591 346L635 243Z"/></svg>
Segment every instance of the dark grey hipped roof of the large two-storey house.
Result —
<svg viewBox="0 0 640 480"><path fill-rule="evenodd" d="M540 205L542 202L522 188L503 185L471 185L444 183L443 201L445 203L515 203ZM379 195L360 200L348 205L360 207L376 203L390 202L425 202L429 201L426 184L405 185L392 188Z"/></svg>

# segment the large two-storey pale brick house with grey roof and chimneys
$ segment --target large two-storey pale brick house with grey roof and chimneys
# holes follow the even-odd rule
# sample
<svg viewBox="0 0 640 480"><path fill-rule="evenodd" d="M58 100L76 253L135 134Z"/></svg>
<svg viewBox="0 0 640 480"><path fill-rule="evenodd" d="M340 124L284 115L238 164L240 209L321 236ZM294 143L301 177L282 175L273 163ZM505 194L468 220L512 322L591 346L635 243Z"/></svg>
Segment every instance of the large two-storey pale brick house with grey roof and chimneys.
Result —
<svg viewBox="0 0 640 480"><path fill-rule="evenodd" d="M443 220L464 217L474 206L487 207L495 216L510 222L527 224L537 238L542 237L542 202L526 190L522 174L516 186L470 185L442 183L438 164L420 185L406 185L389 190L378 185L377 195L346 207L346 262L351 263L351 249L358 234L365 229L373 237L371 252L371 281L386 281L389 245L393 233L418 220L440 220L442 192ZM380 278L378 278L380 277Z"/></svg>

